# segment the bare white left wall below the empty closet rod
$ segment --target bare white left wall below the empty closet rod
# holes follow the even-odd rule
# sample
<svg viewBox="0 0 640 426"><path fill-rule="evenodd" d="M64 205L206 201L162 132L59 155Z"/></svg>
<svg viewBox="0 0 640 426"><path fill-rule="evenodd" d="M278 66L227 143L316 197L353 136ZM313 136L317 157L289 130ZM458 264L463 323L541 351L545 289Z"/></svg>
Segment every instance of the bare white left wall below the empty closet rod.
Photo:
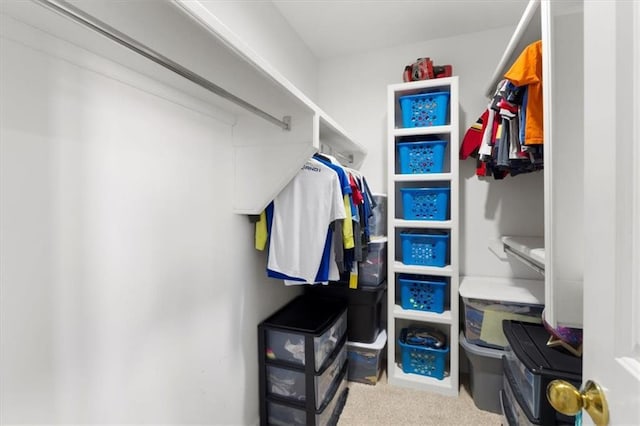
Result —
<svg viewBox="0 0 640 426"><path fill-rule="evenodd" d="M231 212L233 117L6 22L0 423L255 424L294 293Z"/></svg>

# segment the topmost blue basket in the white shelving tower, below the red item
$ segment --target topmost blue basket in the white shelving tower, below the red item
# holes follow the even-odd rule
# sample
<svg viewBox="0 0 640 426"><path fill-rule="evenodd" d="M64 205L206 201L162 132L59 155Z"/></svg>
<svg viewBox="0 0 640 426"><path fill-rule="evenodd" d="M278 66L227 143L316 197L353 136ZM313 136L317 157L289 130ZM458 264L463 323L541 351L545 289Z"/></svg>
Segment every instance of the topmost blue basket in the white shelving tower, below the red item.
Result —
<svg viewBox="0 0 640 426"><path fill-rule="evenodd" d="M449 92L420 93L400 97L403 127L442 126L449 109Z"/></svg>

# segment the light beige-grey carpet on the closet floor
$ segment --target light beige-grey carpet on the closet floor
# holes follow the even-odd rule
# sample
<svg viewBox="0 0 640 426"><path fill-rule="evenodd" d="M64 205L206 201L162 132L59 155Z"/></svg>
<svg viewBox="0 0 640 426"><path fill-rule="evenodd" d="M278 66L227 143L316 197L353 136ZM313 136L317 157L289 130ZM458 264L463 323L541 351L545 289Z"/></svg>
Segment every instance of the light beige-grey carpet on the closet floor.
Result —
<svg viewBox="0 0 640 426"><path fill-rule="evenodd" d="M468 377L461 376L461 381L457 398L389 386L386 373L376 385L349 382L349 396L338 426L499 426L502 416L476 408L469 394Z"/></svg>

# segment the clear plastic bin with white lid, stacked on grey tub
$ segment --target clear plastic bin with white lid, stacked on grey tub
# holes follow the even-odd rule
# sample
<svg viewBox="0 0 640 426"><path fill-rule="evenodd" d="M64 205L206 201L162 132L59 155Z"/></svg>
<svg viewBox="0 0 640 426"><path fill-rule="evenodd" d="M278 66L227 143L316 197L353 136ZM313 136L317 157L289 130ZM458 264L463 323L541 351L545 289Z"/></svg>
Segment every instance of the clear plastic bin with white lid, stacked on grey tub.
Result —
<svg viewBox="0 0 640 426"><path fill-rule="evenodd" d="M502 277L462 277L464 335L469 343L496 349L507 346L502 320L541 323L544 281Z"/></svg>

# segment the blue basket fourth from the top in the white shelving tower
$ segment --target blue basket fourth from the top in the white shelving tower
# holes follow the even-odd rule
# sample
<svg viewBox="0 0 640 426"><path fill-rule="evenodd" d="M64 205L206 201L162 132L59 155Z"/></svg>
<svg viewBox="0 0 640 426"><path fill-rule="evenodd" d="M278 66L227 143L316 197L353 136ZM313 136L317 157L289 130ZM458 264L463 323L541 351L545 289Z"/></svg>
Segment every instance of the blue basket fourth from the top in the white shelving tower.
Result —
<svg viewBox="0 0 640 426"><path fill-rule="evenodd" d="M401 233L402 263L405 265L445 266L448 234Z"/></svg>

